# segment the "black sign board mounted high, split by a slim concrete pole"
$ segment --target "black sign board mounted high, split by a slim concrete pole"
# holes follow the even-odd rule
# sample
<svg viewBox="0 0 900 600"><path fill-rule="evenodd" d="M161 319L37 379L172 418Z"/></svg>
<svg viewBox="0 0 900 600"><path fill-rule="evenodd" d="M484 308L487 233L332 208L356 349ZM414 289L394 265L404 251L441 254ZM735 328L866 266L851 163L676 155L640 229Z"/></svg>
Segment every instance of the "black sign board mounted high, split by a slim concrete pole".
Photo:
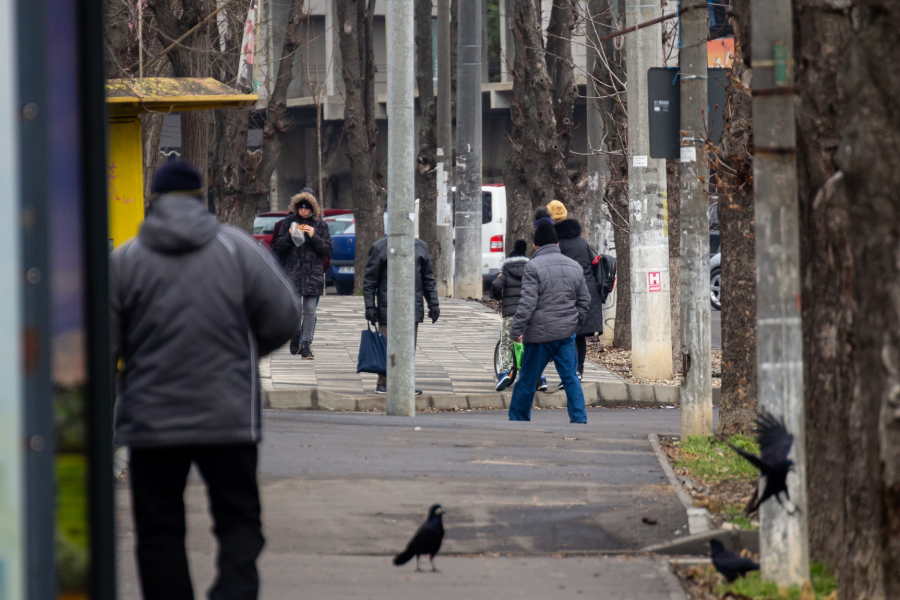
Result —
<svg viewBox="0 0 900 600"><path fill-rule="evenodd" d="M722 135L722 108L725 106L726 69L708 69L707 79L709 139L714 144ZM681 157L681 86L678 67L648 69L647 103L650 111L651 158Z"/></svg>

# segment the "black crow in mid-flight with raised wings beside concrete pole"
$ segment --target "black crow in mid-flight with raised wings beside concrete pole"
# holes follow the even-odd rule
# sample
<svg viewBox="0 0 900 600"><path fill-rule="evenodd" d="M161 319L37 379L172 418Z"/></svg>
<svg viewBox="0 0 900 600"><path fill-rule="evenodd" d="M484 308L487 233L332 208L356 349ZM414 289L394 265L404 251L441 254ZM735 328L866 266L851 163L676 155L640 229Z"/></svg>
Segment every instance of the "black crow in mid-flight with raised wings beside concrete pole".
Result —
<svg viewBox="0 0 900 600"><path fill-rule="evenodd" d="M758 510L760 504L773 496L781 506L784 506L781 501L782 493L786 499L791 499L787 490L787 474L794 466L794 461L788 458L788 454L791 453L791 445L794 443L794 436L788 433L784 423L763 411L756 418L756 425L756 439L759 442L760 456L729 444L735 452L759 469L760 477L766 478L766 487L762 496L759 496L758 492L754 494L747 504L747 508L744 509L748 515Z"/></svg>

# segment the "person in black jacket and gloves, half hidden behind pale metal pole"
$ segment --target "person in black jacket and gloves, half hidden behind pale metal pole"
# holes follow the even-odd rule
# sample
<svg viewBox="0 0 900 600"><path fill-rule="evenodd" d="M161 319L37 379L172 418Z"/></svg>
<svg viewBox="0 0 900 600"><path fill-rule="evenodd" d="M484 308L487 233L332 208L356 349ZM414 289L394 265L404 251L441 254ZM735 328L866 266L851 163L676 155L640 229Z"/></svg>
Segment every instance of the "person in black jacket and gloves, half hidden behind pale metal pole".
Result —
<svg viewBox="0 0 900 600"><path fill-rule="evenodd" d="M377 240L369 249L369 262L366 264L366 275L363 278L363 299L366 303L366 320L376 323L378 330L387 336L387 238ZM431 255L428 245L420 239L415 242L416 273L416 337L419 323L425 320L423 300L428 304L428 318L436 323L441 316L438 304L437 286L434 280L434 269L431 267ZM376 394L387 393L387 379L378 376L375 384ZM416 390L421 394L422 390Z"/></svg>

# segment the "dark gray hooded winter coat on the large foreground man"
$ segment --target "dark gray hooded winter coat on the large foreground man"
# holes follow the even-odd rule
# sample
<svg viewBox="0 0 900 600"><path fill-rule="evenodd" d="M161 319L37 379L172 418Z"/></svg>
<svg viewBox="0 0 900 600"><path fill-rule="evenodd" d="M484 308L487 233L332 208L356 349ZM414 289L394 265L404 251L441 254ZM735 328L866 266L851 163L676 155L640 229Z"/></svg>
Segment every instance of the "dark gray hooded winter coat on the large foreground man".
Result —
<svg viewBox="0 0 900 600"><path fill-rule="evenodd" d="M109 263L115 443L258 442L259 357L299 324L269 253L195 198L162 196Z"/></svg>

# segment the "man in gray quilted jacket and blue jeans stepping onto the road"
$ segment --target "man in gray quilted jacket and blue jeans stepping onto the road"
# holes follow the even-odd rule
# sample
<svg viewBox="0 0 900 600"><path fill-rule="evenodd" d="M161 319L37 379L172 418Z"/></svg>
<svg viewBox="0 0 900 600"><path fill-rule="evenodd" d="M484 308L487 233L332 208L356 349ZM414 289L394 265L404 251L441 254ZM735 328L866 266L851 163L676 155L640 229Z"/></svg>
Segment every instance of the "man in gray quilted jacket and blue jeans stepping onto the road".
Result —
<svg viewBox="0 0 900 600"><path fill-rule="evenodd" d="M536 252L525 265L522 297L510 329L510 337L525 344L521 375L509 403L510 421L531 420L535 386L552 358L566 390L569 421L587 423L575 332L587 317L591 295L581 267L560 253L558 241L553 224L539 220Z"/></svg>

